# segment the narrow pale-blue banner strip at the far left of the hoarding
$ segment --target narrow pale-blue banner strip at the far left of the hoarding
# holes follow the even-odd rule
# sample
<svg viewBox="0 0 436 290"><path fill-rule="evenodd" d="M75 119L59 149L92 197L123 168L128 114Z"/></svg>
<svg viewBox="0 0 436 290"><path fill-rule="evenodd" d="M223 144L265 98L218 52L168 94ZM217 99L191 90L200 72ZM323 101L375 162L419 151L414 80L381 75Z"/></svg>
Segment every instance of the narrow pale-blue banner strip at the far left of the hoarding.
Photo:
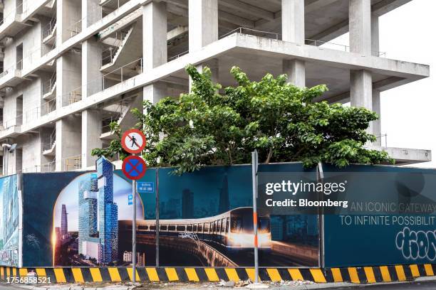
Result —
<svg viewBox="0 0 436 290"><path fill-rule="evenodd" d="M0 265L19 267L19 176L0 178Z"/></svg>

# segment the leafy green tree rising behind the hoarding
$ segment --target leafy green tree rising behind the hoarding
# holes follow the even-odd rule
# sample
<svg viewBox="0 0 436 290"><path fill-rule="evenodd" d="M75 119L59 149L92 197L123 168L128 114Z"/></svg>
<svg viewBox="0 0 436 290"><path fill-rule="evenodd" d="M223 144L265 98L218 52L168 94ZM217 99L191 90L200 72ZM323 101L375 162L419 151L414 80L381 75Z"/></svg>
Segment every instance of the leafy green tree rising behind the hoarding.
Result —
<svg viewBox="0 0 436 290"><path fill-rule="evenodd" d="M326 92L326 85L299 88L286 82L286 75L265 75L259 82L232 68L237 86L214 84L211 71L199 73L188 65L192 92L157 104L144 102L133 109L137 128L147 136L143 158L149 166L175 166L175 173L190 172L207 165L251 162L251 151L259 151L264 163L319 161L336 166L350 163L393 162L384 151L365 149L375 141L365 131L377 114L365 108L313 102ZM118 124L111 124L120 136ZM126 154L120 141L108 149L93 149L93 155Z"/></svg>

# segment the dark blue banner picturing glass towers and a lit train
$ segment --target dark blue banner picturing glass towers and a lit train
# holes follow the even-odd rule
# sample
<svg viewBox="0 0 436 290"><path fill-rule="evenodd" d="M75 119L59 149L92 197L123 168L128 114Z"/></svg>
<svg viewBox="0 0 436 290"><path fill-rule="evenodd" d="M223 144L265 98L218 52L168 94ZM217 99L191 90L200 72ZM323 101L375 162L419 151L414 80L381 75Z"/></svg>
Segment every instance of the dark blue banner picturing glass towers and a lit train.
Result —
<svg viewBox="0 0 436 290"><path fill-rule="evenodd" d="M301 164L261 166L301 171ZM311 173L314 176L314 173ZM24 267L126 267L132 261L132 183L99 159L96 172L25 173ZM138 181L137 265L253 267L251 166L211 166L182 176L149 168ZM318 267L316 215L259 211L259 263Z"/></svg>

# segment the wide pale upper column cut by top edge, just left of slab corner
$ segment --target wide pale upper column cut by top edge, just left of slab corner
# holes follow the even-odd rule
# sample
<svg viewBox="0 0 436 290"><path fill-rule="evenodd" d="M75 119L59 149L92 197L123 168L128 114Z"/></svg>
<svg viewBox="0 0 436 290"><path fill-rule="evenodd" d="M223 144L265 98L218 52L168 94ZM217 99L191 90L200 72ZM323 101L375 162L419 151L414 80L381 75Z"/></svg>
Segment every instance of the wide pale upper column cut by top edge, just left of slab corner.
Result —
<svg viewBox="0 0 436 290"><path fill-rule="evenodd" d="M190 53L218 40L218 0L189 0Z"/></svg>

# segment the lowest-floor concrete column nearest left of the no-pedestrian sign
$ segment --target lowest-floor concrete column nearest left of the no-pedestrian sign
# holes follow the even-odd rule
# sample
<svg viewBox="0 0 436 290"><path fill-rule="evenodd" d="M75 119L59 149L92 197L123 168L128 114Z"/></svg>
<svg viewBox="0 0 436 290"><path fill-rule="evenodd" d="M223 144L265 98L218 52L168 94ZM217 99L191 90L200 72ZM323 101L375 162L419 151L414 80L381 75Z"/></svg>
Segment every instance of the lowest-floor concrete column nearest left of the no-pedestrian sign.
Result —
<svg viewBox="0 0 436 290"><path fill-rule="evenodd" d="M82 112L82 168L95 165L95 157L90 152L94 148L101 148L100 139L101 111L99 109L85 109Z"/></svg>

